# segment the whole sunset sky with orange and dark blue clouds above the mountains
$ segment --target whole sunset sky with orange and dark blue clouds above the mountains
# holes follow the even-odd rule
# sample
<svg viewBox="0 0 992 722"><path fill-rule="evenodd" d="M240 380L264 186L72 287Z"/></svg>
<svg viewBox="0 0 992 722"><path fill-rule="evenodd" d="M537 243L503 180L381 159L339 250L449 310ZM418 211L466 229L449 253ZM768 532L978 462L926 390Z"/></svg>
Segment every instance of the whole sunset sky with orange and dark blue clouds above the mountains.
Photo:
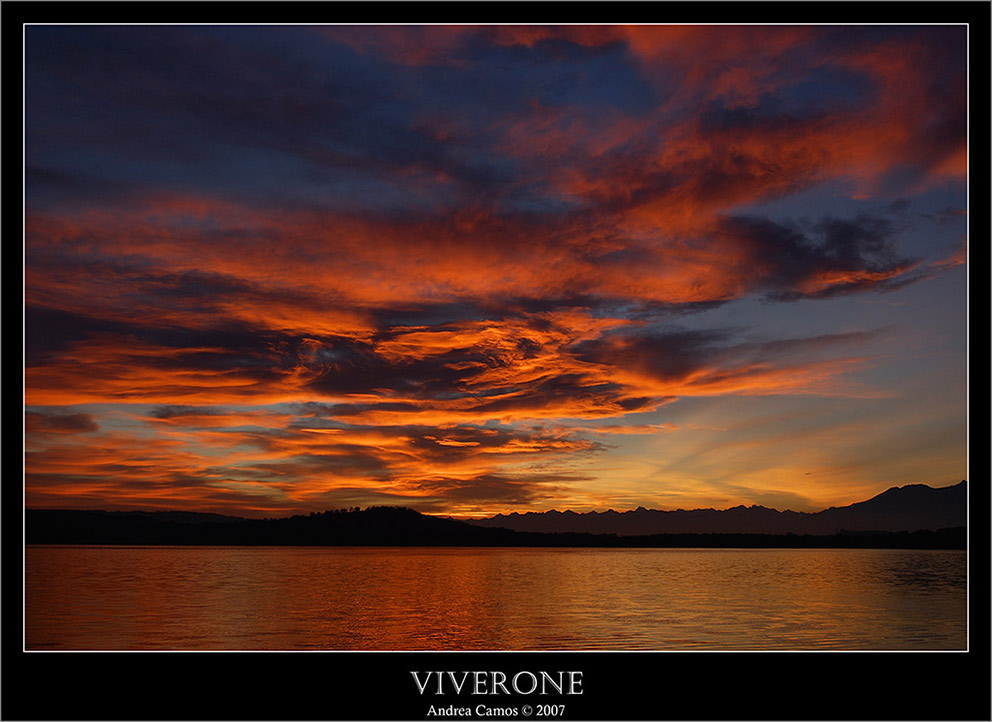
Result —
<svg viewBox="0 0 992 722"><path fill-rule="evenodd" d="M28 26L28 507L967 478L967 28Z"/></svg>

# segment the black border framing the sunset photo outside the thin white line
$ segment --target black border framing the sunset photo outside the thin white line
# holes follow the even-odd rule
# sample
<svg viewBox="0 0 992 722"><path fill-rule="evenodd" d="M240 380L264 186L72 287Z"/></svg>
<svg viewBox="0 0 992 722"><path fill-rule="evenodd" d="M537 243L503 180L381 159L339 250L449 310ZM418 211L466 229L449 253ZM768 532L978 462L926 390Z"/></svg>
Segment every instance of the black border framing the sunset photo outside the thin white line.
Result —
<svg viewBox="0 0 992 722"><path fill-rule="evenodd" d="M726 22L969 23L970 321L989 328L989 30L988 2L33 2L0 5L2 66L4 278L20 281L23 194L20 159L22 47L27 22L338 23L338 22ZM235 19L236 18L236 19ZM567 18L567 20L564 20ZM22 332L10 295L4 312L8 355ZM23 321L23 314L19 313ZM21 336L23 343L23 336ZM984 380L989 339L970 336L973 378ZM23 348L23 346L22 346ZM975 363L978 360L979 363ZM411 670L575 669L583 695L565 698L568 719L599 720L989 720L989 467L983 445L971 455L970 649L968 652L590 652L590 653L73 653L22 651L20 451L15 411L22 376L4 365L7 433L2 485L4 720L317 720L424 719ZM976 384L972 384L974 390ZM21 386L23 390L23 386ZM989 397L971 395L972 419L989 418ZM21 396L20 401L23 401ZM975 412L978 412L977 414ZM972 421L972 432L984 430ZM984 438L984 437L982 437ZM20 462L18 459L20 458ZM8 468L9 467L9 468ZM572 699L576 701L572 703ZM447 702L447 700L445 700ZM521 703L515 700L514 703Z"/></svg>

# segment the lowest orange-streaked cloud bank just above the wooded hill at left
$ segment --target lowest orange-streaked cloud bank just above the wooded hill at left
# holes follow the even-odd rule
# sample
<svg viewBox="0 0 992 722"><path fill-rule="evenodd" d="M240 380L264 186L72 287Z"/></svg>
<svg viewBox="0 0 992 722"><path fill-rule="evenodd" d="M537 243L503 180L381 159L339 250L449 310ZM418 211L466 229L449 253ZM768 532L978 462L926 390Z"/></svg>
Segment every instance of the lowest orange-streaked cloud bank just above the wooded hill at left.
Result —
<svg viewBox="0 0 992 722"><path fill-rule="evenodd" d="M476 480L489 489L480 490L478 499L523 503L530 498L531 485L547 486L549 472L522 472L521 465L603 450L564 428L427 426L417 423L421 416L409 418L405 426L360 426L334 419L333 407L307 405L296 411L151 407L145 416L132 415L126 430L107 430L92 442L67 444L36 434L25 456L25 472L32 486L44 482L35 499L89 489L139 505L197 508L227 490L232 501L256 497L256 509L260 504L318 509L328 492L364 486L370 493L388 490L393 498L420 508L423 497L439 499L435 492L446 488L467 503L475 498L468 489ZM309 419L300 415L312 411L318 413ZM54 414L33 413L28 419L37 428L40 419L49 417ZM49 426L96 430L84 421L65 417ZM149 430L156 432L154 437ZM512 483L498 493L497 481L504 477L512 477Z"/></svg>

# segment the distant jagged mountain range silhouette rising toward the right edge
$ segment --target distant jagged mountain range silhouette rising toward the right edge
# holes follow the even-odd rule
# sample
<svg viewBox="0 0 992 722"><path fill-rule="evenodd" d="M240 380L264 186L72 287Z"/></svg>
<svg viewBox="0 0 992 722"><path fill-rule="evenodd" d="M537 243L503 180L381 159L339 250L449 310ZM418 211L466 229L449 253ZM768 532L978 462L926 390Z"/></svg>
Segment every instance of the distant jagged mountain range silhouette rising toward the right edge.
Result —
<svg viewBox="0 0 992 722"><path fill-rule="evenodd" d="M892 487L867 501L816 513L777 511L763 506L736 506L717 511L658 511L643 507L626 512L572 511L499 514L472 520L487 528L583 534L814 534L937 530L967 524L967 484L932 488L923 484Z"/></svg>

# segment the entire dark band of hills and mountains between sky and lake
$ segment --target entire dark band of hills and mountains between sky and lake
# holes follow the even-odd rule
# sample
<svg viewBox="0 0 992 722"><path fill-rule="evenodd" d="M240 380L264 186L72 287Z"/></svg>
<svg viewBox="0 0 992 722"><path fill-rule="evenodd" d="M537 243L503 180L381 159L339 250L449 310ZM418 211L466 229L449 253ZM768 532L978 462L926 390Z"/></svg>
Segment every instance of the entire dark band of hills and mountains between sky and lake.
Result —
<svg viewBox="0 0 992 722"><path fill-rule="evenodd" d="M510 514L473 522L427 516L401 507L314 512L276 519L183 511L26 509L25 541L272 546L963 548L966 497L966 486L961 482L943 489L922 485L890 489L866 502L817 514L763 507L735 507L722 512L637 509L602 514ZM515 529L513 525L526 528Z"/></svg>

